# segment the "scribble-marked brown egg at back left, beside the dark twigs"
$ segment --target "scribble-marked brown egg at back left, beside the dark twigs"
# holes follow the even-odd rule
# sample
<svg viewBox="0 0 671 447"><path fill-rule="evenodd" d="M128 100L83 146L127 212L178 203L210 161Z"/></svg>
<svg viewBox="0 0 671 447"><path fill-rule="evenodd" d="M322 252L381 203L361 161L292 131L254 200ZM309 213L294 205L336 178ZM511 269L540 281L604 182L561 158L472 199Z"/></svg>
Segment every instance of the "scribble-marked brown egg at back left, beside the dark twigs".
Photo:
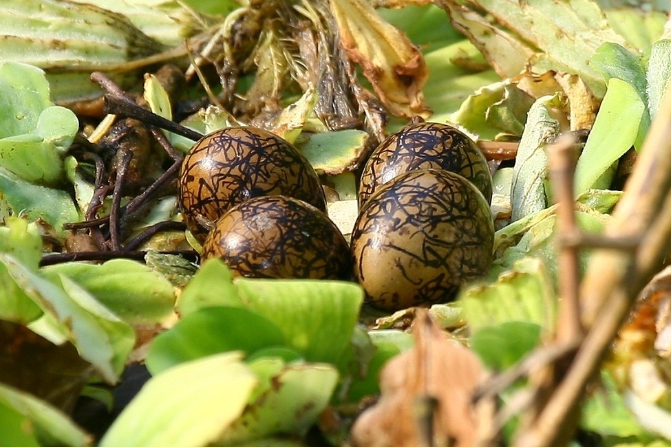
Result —
<svg viewBox="0 0 671 447"><path fill-rule="evenodd" d="M214 221L235 204L287 195L326 210L319 177L292 144L255 127L228 127L198 140L182 162L180 207L203 241Z"/></svg>

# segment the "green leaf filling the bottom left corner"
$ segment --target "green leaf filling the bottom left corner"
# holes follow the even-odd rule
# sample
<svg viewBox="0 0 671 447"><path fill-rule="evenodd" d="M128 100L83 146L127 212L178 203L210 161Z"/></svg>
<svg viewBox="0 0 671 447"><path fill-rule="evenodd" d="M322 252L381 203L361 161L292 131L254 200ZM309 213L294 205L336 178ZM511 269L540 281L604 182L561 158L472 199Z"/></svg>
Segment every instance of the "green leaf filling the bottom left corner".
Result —
<svg viewBox="0 0 671 447"><path fill-rule="evenodd" d="M89 435L36 397L0 384L0 446L83 447Z"/></svg>

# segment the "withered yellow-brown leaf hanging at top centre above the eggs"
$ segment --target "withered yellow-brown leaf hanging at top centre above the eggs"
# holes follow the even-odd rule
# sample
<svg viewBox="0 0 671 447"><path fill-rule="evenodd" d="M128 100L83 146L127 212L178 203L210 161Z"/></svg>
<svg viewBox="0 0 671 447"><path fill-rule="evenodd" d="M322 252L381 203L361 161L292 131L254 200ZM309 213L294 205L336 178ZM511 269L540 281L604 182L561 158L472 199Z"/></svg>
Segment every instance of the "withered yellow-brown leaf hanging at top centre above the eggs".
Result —
<svg viewBox="0 0 671 447"><path fill-rule="evenodd" d="M330 0L341 45L383 104L396 116L428 118L422 89L429 76L424 57L403 32L365 0Z"/></svg>

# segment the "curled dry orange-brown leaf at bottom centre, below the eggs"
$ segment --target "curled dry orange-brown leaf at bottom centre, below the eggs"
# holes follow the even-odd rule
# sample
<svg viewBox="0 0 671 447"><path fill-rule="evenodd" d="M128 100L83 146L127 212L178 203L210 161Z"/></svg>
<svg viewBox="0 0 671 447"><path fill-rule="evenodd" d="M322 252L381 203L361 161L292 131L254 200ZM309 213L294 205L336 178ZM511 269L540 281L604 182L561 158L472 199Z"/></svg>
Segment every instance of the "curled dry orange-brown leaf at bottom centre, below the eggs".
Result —
<svg viewBox="0 0 671 447"><path fill-rule="evenodd" d="M380 376L380 400L354 423L356 446L472 446L493 406L473 408L484 379L480 360L448 340L426 311L414 325L415 345L392 358ZM477 411L477 412L476 412Z"/></svg>

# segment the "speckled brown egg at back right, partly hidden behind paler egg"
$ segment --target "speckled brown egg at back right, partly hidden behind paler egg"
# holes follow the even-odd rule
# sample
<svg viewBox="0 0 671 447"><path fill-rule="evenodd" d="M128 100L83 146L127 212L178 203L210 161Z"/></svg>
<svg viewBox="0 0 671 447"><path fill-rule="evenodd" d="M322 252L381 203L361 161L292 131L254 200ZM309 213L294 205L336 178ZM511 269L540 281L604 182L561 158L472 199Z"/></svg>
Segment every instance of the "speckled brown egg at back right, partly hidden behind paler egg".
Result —
<svg viewBox="0 0 671 447"><path fill-rule="evenodd" d="M491 201L491 175L478 145L465 133L437 122L409 124L389 135L361 173L359 206L383 184L416 169L445 169L470 180Z"/></svg>

